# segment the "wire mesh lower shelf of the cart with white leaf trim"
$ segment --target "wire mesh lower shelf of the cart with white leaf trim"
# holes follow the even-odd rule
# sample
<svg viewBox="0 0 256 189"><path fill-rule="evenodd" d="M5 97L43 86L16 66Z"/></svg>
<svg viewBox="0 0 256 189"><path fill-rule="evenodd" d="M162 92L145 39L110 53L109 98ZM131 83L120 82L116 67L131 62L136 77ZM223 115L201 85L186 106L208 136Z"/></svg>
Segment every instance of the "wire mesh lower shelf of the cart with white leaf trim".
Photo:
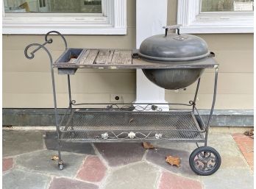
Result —
<svg viewBox="0 0 256 189"><path fill-rule="evenodd" d="M205 130L192 112L73 109L60 124L60 140L205 142Z"/></svg>

